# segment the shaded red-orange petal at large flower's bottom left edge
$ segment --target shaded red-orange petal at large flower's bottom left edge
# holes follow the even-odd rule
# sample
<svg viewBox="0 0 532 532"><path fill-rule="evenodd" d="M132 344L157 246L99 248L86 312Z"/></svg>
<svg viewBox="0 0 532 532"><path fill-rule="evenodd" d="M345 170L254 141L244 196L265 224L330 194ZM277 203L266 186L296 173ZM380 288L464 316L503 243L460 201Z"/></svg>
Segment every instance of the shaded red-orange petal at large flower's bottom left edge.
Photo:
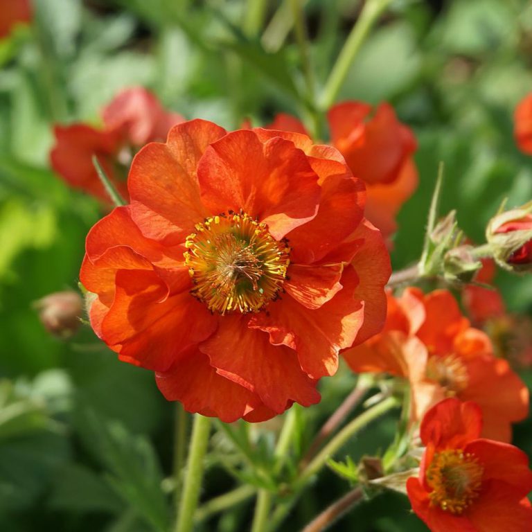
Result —
<svg viewBox="0 0 532 532"><path fill-rule="evenodd" d="M224 423L250 416L256 409L261 420L273 417L255 393L216 373L209 357L196 346L188 349L168 371L156 373L157 386L169 401L180 401L186 411L218 417Z"/></svg>

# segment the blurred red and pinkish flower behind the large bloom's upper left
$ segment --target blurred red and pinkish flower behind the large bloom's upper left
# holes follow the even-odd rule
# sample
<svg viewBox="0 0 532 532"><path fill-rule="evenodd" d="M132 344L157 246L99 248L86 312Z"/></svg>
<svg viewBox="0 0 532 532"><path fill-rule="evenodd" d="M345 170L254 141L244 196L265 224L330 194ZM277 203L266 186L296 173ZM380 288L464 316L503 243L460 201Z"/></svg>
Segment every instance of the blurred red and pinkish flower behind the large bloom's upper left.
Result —
<svg viewBox="0 0 532 532"><path fill-rule="evenodd" d="M159 100L142 87L122 91L103 108L103 129L76 123L54 127L53 169L75 188L109 203L109 196L92 163L96 155L121 195L127 197L125 178L134 154L151 141L163 141L172 125L184 118L166 112Z"/></svg>

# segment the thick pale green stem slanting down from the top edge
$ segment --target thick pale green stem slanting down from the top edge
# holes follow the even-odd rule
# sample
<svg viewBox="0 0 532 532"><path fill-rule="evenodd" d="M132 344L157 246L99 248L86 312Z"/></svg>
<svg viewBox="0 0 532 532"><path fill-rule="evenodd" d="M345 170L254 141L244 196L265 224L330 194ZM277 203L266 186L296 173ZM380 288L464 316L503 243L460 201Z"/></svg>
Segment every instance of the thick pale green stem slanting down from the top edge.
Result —
<svg viewBox="0 0 532 532"><path fill-rule="evenodd" d="M347 37L344 48L342 48L335 66L332 67L332 71L323 89L321 97L322 109L328 109L335 103L353 60L360 51L371 28L373 28L382 12L389 6L389 3L391 3L391 0L367 0L364 4L360 17L358 17L355 26L353 26L351 33Z"/></svg>

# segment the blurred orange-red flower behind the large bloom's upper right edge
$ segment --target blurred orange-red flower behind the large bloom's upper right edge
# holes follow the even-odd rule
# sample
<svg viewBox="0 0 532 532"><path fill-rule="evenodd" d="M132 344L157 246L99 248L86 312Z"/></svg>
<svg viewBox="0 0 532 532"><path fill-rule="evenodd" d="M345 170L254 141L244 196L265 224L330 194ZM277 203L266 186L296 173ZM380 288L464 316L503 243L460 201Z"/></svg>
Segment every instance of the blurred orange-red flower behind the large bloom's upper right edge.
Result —
<svg viewBox="0 0 532 532"><path fill-rule="evenodd" d="M375 108L357 101L339 103L329 110L328 122L332 145L366 184L366 218L389 239L397 229L400 207L418 186L414 134L397 120L388 103ZM288 114L278 114L268 127L305 132L303 124Z"/></svg>

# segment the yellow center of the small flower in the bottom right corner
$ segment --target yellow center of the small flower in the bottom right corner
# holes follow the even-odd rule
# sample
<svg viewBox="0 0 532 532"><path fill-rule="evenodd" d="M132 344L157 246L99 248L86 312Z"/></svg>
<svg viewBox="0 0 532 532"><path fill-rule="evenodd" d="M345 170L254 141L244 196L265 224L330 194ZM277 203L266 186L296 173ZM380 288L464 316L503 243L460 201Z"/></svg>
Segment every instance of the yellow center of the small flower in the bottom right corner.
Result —
<svg viewBox="0 0 532 532"><path fill-rule="evenodd" d="M479 496L483 474L474 454L460 449L437 452L426 473L430 504L460 515Z"/></svg>

